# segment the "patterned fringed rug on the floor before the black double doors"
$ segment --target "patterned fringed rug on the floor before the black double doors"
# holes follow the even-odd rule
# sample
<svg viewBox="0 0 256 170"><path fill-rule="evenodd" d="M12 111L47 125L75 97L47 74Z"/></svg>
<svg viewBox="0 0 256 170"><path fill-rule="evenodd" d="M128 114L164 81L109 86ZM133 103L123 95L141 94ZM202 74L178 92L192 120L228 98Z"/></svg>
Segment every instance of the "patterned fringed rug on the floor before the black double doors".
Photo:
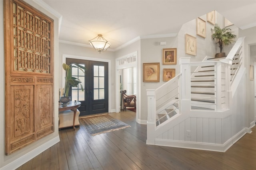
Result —
<svg viewBox="0 0 256 170"><path fill-rule="evenodd" d="M130 127L130 125L115 119L108 114L81 117L79 118L79 121L86 127L87 131L92 136Z"/></svg>

